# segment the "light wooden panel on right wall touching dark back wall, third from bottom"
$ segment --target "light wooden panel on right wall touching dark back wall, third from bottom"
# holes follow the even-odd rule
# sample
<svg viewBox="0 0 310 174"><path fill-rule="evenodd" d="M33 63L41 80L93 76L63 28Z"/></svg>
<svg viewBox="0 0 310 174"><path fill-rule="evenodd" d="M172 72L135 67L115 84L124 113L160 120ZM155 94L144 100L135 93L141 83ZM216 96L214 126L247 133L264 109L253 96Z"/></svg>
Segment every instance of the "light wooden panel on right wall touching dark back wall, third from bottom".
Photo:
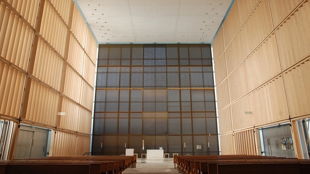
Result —
<svg viewBox="0 0 310 174"><path fill-rule="evenodd" d="M221 110L225 106L227 106L230 101L230 89L229 89L229 80L223 81L222 84L217 86L217 107L218 110Z"/></svg>

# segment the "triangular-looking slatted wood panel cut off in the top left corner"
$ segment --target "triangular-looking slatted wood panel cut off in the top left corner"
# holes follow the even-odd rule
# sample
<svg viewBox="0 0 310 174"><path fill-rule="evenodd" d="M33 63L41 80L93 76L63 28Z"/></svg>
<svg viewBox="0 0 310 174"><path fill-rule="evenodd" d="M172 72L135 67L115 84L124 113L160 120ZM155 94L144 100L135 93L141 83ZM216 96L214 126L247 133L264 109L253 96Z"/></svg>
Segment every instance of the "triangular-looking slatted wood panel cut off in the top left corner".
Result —
<svg viewBox="0 0 310 174"><path fill-rule="evenodd" d="M24 17L32 27L35 26L39 0L7 0L7 2L20 14L20 16Z"/></svg>

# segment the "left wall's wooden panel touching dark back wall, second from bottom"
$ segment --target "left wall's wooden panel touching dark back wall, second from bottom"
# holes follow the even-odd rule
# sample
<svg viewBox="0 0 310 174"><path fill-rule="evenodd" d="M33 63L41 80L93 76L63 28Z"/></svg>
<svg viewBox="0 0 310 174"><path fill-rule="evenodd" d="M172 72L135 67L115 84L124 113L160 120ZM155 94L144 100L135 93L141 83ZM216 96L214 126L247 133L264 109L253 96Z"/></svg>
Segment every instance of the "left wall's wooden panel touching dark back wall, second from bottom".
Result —
<svg viewBox="0 0 310 174"><path fill-rule="evenodd" d="M91 135L92 131L92 112L79 107L79 117L77 132Z"/></svg>

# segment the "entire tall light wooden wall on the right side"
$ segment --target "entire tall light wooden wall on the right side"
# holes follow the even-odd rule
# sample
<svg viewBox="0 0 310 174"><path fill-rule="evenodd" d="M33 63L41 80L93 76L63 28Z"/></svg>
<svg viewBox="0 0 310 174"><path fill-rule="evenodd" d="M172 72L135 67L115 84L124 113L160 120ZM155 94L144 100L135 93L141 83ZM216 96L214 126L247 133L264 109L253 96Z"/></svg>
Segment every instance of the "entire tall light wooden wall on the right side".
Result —
<svg viewBox="0 0 310 174"><path fill-rule="evenodd" d="M235 1L213 42L222 154L256 154L257 128L310 115L309 10L306 0Z"/></svg>

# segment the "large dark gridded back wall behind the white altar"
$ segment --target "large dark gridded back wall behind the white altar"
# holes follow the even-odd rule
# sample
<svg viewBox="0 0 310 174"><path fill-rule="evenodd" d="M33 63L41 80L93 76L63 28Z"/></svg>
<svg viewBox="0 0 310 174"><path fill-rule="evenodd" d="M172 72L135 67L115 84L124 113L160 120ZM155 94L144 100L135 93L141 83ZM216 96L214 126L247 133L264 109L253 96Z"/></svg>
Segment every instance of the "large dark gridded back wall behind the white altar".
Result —
<svg viewBox="0 0 310 174"><path fill-rule="evenodd" d="M99 45L92 154L125 147L218 154L210 44Z"/></svg>

